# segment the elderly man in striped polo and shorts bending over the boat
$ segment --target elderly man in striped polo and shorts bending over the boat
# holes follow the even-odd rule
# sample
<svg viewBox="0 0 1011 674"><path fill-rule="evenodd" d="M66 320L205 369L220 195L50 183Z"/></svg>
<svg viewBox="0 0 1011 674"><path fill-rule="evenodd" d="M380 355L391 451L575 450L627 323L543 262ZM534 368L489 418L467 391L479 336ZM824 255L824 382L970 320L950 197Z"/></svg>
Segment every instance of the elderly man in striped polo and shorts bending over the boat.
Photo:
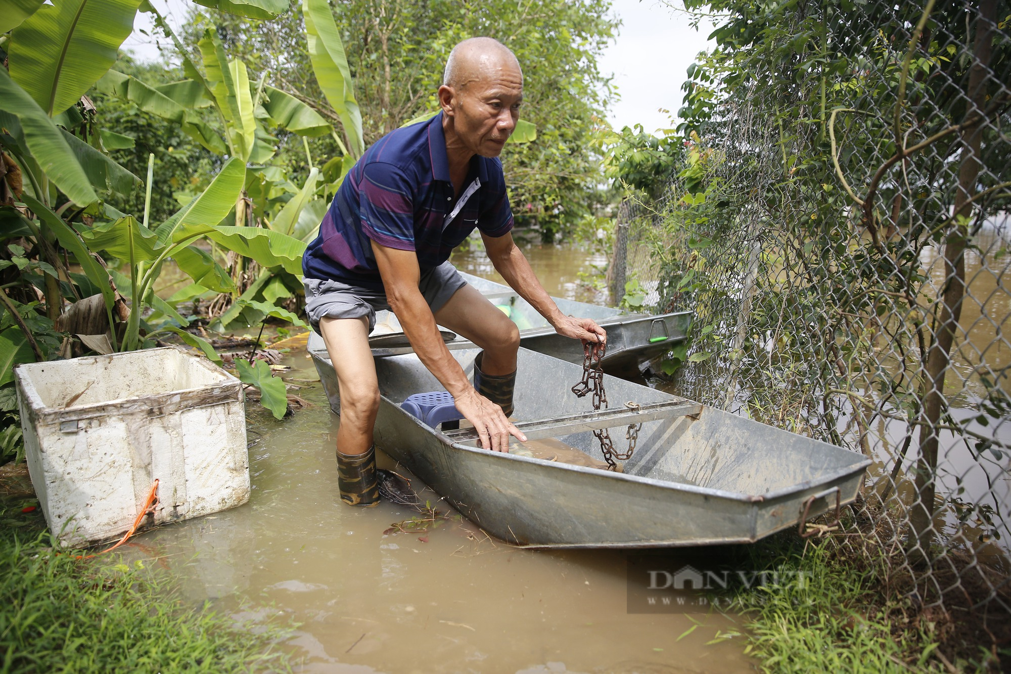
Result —
<svg viewBox="0 0 1011 674"><path fill-rule="evenodd" d="M449 263L477 228L502 277L562 335L607 339L589 319L563 315L513 242L513 214L497 159L523 100L513 53L489 37L457 45L439 87L442 111L375 143L348 173L302 263L305 312L327 343L341 395L338 485L351 505L378 502L372 431L379 386L368 335L390 309L415 352L452 394L481 445L508 451L513 411L516 325ZM436 325L482 351L467 381Z"/></svg>

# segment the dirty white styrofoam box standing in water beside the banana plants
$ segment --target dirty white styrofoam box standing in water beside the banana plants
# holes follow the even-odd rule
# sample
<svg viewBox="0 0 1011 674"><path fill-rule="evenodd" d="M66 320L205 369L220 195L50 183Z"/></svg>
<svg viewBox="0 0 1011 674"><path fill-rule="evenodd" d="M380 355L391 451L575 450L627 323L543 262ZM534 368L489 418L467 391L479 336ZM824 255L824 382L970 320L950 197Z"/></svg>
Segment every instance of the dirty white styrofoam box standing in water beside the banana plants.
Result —
<svg viewBox="0 0 1011 674"><path fill-rule="evenodd" d="M243 387L203 357L165 347L18 365L28 474L66 544L125 532L160 481L145 524L246 503Z"/></svg>

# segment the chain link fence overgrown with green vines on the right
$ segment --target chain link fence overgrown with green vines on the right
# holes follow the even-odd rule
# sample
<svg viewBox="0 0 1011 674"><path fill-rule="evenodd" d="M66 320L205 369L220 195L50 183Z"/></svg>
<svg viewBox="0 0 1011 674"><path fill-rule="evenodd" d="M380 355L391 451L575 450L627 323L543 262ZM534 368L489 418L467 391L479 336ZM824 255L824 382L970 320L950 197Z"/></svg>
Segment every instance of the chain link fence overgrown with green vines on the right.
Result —
<svg viewBox="0 0 1011 674"><path fill-rule="evenodd" d="M1007 648L1011 10L754 12L690 69L683 161L622 205L613 297L695 312L678 393L871 457L831 544Z"/></svg>

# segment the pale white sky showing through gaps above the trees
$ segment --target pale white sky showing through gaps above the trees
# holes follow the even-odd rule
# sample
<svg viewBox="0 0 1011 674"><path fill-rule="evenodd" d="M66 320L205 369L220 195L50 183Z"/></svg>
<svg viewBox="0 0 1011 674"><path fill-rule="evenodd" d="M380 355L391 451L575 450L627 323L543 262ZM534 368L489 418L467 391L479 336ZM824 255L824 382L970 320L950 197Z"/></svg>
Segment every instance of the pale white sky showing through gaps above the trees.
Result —
<svg viewBox="0 0 1011 674"><path fill-rule="evenodd" d="M178 28L188 7L188 0L151 0L173 28ZM649 133L672 125L670 115L681 106L681 84L696 55L707 49L712 24L699 30L688 25L683 11L675 11L657 0L612 0L613 12L622 20L618 38L600 61L602 73L614 74L620 100L611 108L609 121L616 130L643 125ZM137 13L134 30L123 47L143 60L159 59L150 14ZM145 35L142 30L151 33ZM667 109L669 112L662 112Z"/></svg>

